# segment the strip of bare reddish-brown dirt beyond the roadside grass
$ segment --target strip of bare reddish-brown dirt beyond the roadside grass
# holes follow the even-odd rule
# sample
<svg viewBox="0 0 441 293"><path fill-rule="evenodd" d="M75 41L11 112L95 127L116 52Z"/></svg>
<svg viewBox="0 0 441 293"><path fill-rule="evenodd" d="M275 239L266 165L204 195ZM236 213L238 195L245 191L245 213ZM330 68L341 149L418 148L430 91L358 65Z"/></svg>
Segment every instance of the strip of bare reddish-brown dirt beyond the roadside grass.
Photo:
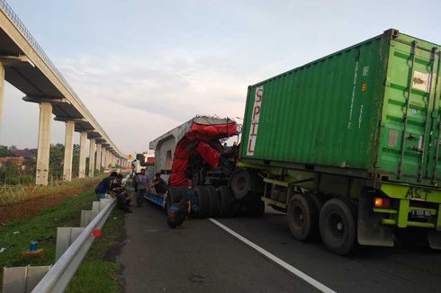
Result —
<svg viewBox="0 0 441 293"><path fill-rule="evenodd" d="M0 205L0 225L4 226L16 219L31 219L42 209L55 208L58 203L76 197L77 194L92 188L95 182L72 188L69 191L59 191L57 195L41 195L15 204Z"/></svg>

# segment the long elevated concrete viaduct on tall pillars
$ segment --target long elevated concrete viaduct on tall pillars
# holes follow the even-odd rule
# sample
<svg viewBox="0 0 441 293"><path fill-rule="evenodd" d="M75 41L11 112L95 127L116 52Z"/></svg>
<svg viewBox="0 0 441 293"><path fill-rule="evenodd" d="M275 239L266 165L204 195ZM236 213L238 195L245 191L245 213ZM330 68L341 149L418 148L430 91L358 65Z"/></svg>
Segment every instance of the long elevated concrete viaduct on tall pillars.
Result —
<svg viewBox="0 0 441 293"><path fill-rule="evenodd" d="M86 145L89 140L88 174L115 167L117 160L128 165L127 157L114 145L57 67L40 48L11 7L0 0L0 129L4 101L4 81L25 96L23 101L40 106L37 184L48 184L50 125L55 120L66 124L63 179L72 180L74 132L80 133L79 177L86 176ZM95 155L96 150L96 155Z"/></svg>

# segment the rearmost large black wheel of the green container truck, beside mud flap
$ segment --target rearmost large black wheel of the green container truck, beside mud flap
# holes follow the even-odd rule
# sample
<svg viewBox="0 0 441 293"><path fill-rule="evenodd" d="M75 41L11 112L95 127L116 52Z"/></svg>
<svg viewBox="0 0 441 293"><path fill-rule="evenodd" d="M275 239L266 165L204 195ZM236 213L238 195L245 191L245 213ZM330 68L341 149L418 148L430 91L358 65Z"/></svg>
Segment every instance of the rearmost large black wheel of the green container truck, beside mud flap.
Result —
<svg viewBox="0 0 441 293"><path fill-rule="evenodd" d="M340 255L356 246L356 208L343 200L328 200L320 211L320 235L326 248Z"/></svg>

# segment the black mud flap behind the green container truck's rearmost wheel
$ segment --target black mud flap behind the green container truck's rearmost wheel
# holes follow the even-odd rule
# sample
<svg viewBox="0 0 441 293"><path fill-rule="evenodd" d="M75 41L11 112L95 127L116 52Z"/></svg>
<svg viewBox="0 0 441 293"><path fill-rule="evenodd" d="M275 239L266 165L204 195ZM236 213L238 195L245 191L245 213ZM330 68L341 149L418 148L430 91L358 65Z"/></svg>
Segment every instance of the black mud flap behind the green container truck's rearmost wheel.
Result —
<svg viewBox="0 0 441 293"><path fill-rule="evenodd" d="M376 214L373 196L363 192L358 201L358 243L362 245L393 246L392 226L382 224L383 215Z"/></svg>

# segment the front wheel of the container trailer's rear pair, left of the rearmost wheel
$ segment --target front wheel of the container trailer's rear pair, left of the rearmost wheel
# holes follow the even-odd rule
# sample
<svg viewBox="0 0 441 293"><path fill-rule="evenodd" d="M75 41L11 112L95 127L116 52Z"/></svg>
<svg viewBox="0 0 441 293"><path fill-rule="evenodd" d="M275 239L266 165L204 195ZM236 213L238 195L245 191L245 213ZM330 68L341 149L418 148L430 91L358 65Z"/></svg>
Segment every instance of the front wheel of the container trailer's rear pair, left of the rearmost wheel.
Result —
<svg viewBox="0 0 441 293"><path fill-rule="evenodd" d="M318 229L319 212L308 195L296 193L288 203L288 226L294 238L308 240Z"/></svg>

